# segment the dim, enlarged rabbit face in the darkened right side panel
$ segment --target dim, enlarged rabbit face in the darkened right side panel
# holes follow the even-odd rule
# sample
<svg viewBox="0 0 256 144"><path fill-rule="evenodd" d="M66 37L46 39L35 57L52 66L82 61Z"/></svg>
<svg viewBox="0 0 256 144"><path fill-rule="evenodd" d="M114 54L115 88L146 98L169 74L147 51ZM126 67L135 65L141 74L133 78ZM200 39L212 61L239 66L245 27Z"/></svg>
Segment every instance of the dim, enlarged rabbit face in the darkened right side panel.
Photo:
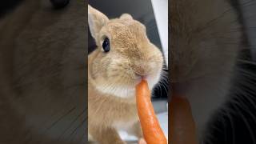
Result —
<svg viewBox="0 0 256 144"><path fill-rule="evenodd" d="M202 139L228 98L242 25L230 1L179 0L169 10L171 86L189 100Z"/></svg>

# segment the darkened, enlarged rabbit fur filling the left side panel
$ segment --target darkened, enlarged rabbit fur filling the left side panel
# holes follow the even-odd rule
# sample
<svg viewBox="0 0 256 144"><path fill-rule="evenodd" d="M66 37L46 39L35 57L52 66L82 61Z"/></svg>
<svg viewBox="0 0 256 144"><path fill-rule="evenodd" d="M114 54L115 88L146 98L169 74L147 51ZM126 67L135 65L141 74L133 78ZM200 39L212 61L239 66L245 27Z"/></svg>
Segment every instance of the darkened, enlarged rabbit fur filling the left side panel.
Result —
<svg viewBox="0 0 256 144"><path fill-rule="evenodd" d="M0 143L86 143L84 2L0 6Z"/></svg>

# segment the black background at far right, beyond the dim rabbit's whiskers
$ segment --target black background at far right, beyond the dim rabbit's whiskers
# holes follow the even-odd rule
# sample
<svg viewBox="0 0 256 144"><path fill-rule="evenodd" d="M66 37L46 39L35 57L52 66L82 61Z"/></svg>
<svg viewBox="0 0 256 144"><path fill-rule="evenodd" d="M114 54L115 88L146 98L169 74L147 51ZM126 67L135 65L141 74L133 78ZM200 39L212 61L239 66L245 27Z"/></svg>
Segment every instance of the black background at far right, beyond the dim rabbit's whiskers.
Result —
<svg viewBox="0 0 256 144"><path fill-rule="evenodd" d="M255 6L254 0L230 0L236 9L238 21L244 32L237 64L234 68L234 78L230 88L228 101L218 110L211 122L203 144L255 144L256 143L256 62L254 61L255 46L251 45L249 33L255 30L248 28L246 22L256 19L244 13L250 6ZM241 5L244 2L245 4ZM208 131L208 132L209 132Z"/></svg>

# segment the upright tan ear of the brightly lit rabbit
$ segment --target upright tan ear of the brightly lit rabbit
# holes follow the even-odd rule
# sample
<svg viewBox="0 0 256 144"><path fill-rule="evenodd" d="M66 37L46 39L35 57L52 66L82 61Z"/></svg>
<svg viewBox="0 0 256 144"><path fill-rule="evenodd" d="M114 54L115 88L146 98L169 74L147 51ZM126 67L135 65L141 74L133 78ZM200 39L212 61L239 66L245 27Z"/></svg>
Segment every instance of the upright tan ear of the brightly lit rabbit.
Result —
<svg viewBox="0 0 256 144"><path fill-rule="evenodd" d="M97 39L98 32L102 29L102 26L109 21L109 18L100 11L94 9L92 6L88 5L88 23L90 28L90 34L94 39Z"/></svg>

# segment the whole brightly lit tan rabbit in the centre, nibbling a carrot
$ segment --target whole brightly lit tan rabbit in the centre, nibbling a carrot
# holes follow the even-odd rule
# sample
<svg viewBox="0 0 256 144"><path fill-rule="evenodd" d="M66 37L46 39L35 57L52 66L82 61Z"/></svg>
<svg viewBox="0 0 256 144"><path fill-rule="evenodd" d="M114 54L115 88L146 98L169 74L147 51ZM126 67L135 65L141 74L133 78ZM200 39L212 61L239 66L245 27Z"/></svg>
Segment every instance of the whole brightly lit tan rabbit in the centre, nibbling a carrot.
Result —
<svg viewBox="0 0 256 144"><path fill-rule="evenodd" d="M147 38L146 27L130 14L109 19L88 5L90 34L97 49L88 56L88 130L101 144L126 143L118 130L142 138L135 86L158 83L163 56Z"/></svg>

